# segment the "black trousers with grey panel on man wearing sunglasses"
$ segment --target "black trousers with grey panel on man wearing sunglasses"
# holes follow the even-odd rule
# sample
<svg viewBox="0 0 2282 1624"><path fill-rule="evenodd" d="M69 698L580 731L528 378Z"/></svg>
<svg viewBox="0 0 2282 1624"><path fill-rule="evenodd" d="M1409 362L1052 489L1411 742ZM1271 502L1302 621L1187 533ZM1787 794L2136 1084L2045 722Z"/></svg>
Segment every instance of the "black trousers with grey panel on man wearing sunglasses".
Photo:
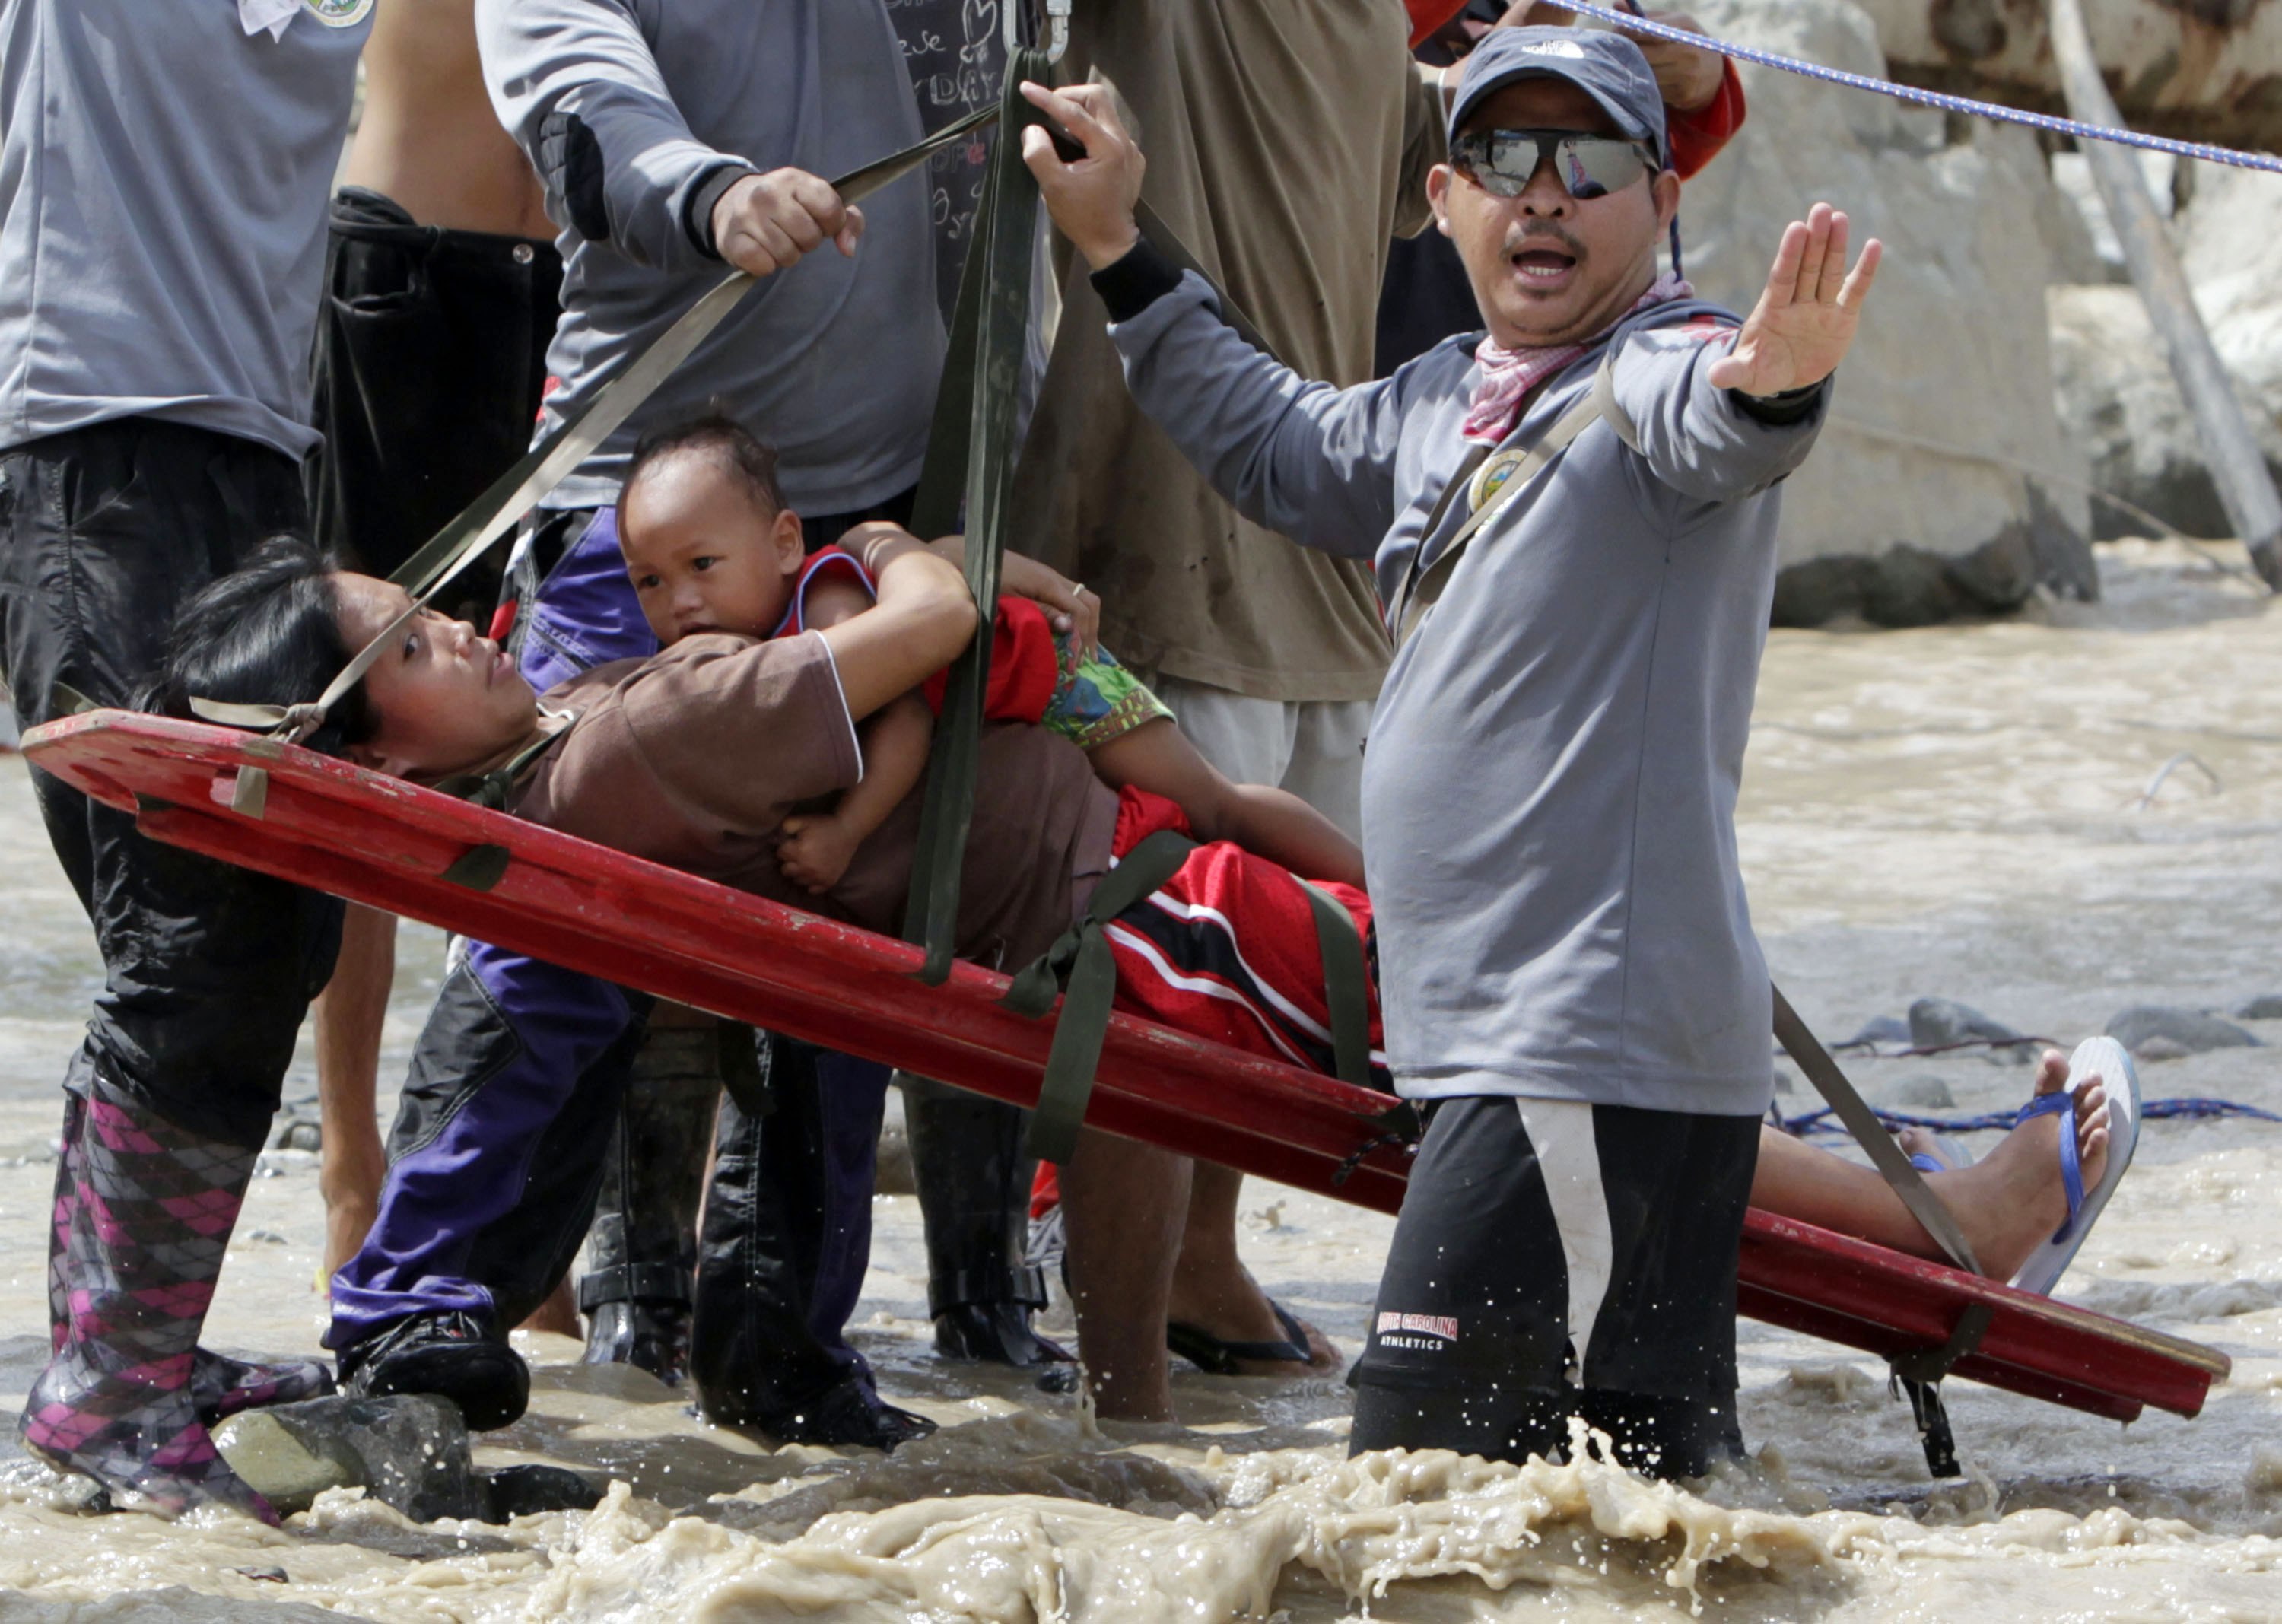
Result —
<svg viewBox="0 0 2282 1624"><path fill-rule="evenodd" d="M1734 1270L1757 1156L1757 1118L1438 1099L1356 1364L1351 1448L1556 1460L1581 1416L1659 1478L1739 1453Z"/></svg>

